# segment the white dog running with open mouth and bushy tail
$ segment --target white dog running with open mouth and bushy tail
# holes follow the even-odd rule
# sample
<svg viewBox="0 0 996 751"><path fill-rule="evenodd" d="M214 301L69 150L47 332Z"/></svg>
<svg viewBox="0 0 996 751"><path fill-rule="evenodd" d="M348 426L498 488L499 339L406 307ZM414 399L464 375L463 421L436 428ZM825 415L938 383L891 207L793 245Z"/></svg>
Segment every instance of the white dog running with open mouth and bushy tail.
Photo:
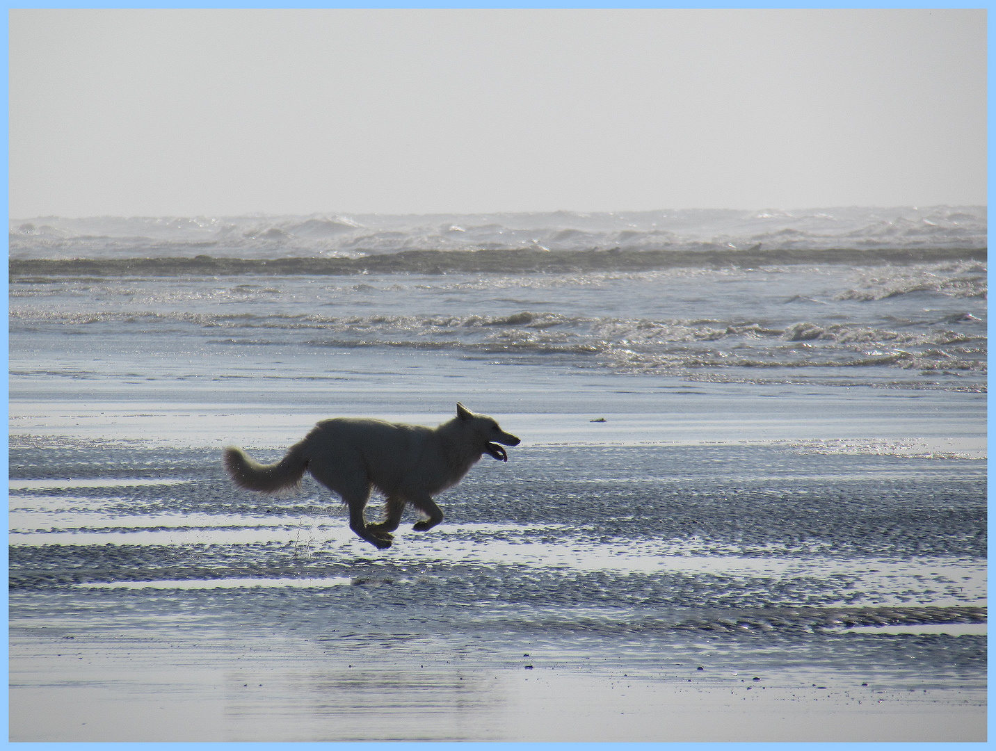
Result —
<svg viewBox="0 0 996 751"><path fill-rule="evenodd" d="M315 425L274 464L259 464L235 446L225 449L224 462L236 485L263 493L293 488L311 472L349 506L350 529L383 549L390 547L405 504L428 515L413 529L431 529L442 521L432 496L456 485L485 453L508 461L498 444L519 442L493 417L456 402L456 416L438 427L336 417ZM384 494L386 503L384 520L368 525L364 509L372 488Z"/></svg>

